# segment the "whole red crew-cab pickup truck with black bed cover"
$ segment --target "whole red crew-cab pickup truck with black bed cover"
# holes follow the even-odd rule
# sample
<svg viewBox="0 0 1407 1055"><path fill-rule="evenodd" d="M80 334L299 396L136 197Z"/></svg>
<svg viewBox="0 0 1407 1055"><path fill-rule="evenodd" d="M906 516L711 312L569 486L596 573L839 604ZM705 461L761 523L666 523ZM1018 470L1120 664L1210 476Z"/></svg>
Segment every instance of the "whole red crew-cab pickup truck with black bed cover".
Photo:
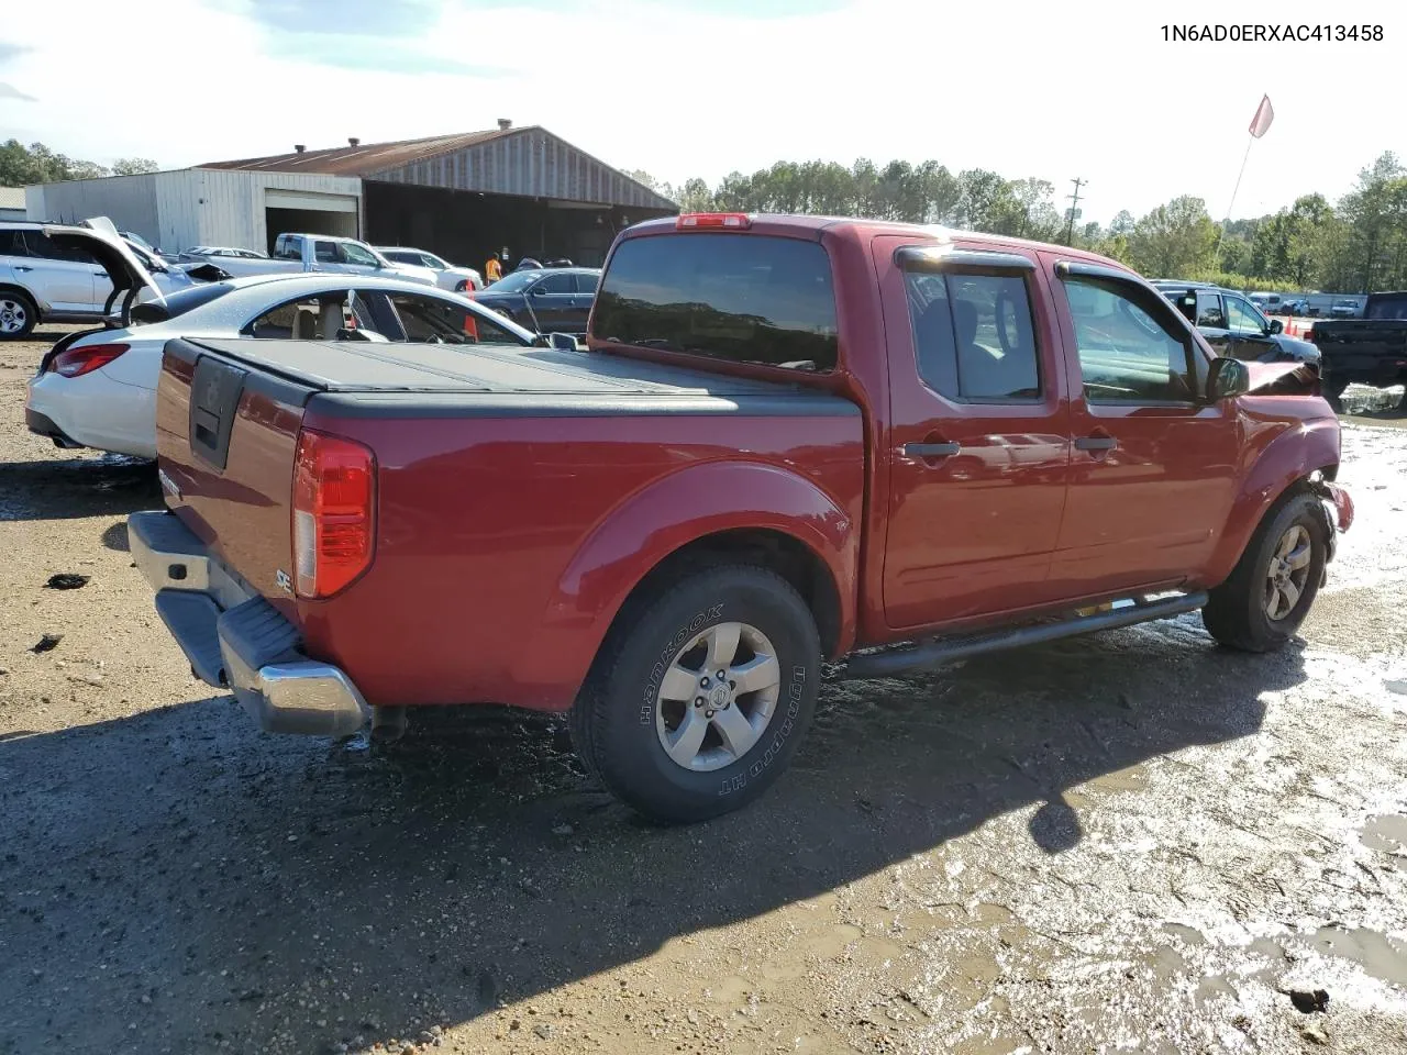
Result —
<svg viewBox="0 0 1407 1055"><path fill-rule="evenodd" d="M622 799L696 820L785 768L827 658L1196 609L1285 643L1352 519L1285 371L1079 250L685 215L619 236L584 347L170 342L131 549L267 730L570 712Z"/></svg>

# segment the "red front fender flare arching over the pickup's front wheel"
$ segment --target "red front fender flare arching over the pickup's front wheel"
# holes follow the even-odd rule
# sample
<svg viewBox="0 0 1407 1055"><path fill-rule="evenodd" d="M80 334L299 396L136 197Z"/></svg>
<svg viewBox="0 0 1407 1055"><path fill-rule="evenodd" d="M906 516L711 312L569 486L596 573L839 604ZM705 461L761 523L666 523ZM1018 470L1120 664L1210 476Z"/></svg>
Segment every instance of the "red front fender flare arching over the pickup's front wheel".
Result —
<svg viewBox="0 0 1407 1055"><path fill-rule="evenodd" d="M1338 466L1338 421L1318 418L1290 425L1254 457L1207 567L1209 587L1225 581L1266 512L1296 481Z"/></svg>

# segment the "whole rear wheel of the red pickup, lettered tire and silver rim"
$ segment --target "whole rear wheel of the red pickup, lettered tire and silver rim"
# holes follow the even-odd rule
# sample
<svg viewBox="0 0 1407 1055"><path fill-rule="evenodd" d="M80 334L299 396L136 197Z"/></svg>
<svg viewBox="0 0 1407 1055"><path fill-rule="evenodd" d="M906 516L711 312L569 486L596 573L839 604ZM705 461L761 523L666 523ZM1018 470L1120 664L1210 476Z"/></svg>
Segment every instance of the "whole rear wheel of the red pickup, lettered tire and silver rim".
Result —
<svg viewBox="0 0 1407 1055"><path fill-rule="evenodd" d="M633 602L571 712L587 768L640 813L715 817L787 768L816 709L820 640L781 575L694 571Z"/></svg>

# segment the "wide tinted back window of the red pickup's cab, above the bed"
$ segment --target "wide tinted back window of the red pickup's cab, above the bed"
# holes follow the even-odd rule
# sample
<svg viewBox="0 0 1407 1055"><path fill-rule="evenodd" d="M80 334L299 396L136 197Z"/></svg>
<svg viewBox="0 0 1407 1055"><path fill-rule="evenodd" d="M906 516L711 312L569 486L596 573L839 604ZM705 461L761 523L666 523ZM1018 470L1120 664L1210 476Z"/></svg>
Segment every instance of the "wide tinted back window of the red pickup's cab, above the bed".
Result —
<svg viewBox="0 0 1407 1055"><path fill-rule="evenodd" d="M830 259L816 242L681 234L622 242L592 336L737 363L836 366Z"/></svg>

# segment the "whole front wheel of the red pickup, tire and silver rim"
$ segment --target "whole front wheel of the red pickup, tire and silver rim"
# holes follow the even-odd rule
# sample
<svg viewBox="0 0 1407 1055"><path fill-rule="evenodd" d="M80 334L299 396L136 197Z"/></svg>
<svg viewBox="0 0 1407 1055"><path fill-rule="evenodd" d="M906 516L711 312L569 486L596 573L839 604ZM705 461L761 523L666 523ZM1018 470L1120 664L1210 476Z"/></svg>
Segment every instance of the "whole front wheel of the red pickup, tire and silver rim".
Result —
<svg viewBox="0 0 1407 1055"><path fill-rule="evenodd" d="M1211 591L1202 622L1221 644L1249 653L1279 648L1309 615L1328 560L1318 499L1296 494L1261 523L1240 563Z"/></svg>

